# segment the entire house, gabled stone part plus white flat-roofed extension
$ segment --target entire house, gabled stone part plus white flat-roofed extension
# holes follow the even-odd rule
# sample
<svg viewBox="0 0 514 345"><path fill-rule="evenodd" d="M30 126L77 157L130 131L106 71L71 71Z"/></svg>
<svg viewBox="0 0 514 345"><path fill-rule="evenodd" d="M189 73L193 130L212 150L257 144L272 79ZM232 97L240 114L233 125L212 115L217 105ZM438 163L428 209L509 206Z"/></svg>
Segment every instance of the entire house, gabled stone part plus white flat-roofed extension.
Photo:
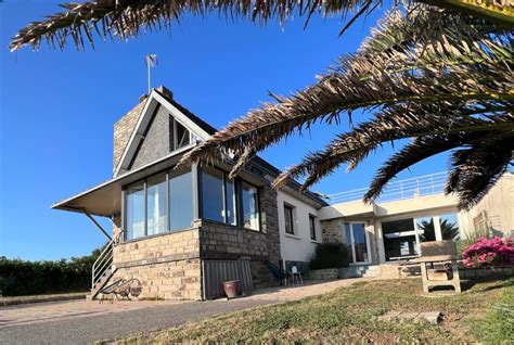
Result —
<svg viewBox="0 0 514 345"><path fill-rule="evenodd" d="M423 241L514 231L511 173L460 212L442 193L445 173L389 183L371 204L360 201L362 189L330 195L329 205L295 181L273 190L281 171L259 157L233 180L230 162L174 169L215 131L169 90L153 89L114 126L112 179L52 206L86 214L108 239L93 267L93 297L121 278L141 281L143 297L218 297L232 279L250 291L279 283L273 267L308 263L321 242L346 243L352 276L397 277ZM110 218L113 231L94 216Z"/></svg>

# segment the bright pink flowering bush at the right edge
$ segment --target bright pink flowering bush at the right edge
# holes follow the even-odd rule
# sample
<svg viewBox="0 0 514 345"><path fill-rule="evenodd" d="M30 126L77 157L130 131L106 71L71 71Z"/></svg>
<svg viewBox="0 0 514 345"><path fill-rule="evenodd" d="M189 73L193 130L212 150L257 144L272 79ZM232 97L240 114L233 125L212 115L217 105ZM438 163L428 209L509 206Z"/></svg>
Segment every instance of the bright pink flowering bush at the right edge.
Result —
<svg viewBox="0 0 514 345"><path fill-rule="evenodd" d="M514 265L514 239L479 238L466 247L463 264L466 267Z"/></svg>

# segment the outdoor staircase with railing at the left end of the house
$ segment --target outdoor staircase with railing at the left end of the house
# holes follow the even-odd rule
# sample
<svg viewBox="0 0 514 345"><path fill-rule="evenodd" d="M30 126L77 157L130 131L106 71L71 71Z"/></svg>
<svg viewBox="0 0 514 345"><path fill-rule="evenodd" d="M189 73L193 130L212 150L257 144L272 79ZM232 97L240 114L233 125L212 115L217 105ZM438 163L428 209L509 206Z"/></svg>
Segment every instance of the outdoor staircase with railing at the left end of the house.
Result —
<svg viewBox="0 0 514 345"><path fill-rule="evenodd" d="M119 242L120 235L121 231L108 241L94 261L91 274L91 294L87 299L94 299L116 272L116 267L113 265L113 252L114 245Z"/></svg>

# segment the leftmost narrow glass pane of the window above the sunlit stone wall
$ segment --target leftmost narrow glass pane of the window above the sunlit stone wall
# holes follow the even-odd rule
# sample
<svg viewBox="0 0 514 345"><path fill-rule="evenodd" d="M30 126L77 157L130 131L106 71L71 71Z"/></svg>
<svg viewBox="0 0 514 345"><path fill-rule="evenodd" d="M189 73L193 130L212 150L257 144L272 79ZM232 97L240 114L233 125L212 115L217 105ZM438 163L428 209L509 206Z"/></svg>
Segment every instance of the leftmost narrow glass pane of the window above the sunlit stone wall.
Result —
<svg viewBox="0 0 514 345"><path fill-rule="evenodd" d="M127 189L127 240L144 235L144 184Z"/></svg>

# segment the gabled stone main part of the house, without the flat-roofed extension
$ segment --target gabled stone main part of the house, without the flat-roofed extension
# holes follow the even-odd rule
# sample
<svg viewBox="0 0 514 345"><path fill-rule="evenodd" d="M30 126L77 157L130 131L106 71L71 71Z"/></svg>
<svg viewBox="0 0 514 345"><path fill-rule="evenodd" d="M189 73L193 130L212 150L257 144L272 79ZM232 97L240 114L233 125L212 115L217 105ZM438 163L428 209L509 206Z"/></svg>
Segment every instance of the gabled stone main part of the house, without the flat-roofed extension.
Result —
<svg viewBox="0 0 514 345"><path fill-rule="evenodd" d="M108 282L138 278L143 297L204 299L219 296L221 280L243 274L248 290L277 284L267 265L308 261L321 239L318 209L327 205L319 196L300 193L295 181L274 191L270 181L281 171L259 157L233 180L221 161L174 170L215 131L169 90L153 89L114 126L113 178L53 205L113 221L112 233L100 227L110 242L94 267L93 295ZM300 243L291 259L281 256L283 201L297 232L282 235Z"/></svg>

